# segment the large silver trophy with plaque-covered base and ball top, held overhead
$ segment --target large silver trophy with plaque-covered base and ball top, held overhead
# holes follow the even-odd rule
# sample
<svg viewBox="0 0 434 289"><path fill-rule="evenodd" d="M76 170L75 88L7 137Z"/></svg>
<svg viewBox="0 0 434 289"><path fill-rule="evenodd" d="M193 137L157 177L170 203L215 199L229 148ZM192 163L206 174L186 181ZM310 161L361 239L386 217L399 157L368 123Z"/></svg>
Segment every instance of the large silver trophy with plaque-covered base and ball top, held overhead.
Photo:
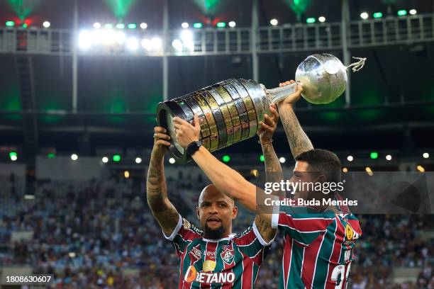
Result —
<svg viewBox="0 0 434 289"><path fill-rule="evenodd" d="M175 162L189 162L189 156L177 144L172 118L178 116L191 122L194 113L199 115L201 142L210 152L228 147L253 137L269 114L269 105L278 103L303 84L301 94L306 101L315 104L330 103L343 94L347 86L347 69L357 72L365 65L366 58L345 67L330 54L310 55L299 64L296 82L288 86L266 89L256 81L228 79L191 94L159 103L157 121L170 135L169 153Z"/></svg>

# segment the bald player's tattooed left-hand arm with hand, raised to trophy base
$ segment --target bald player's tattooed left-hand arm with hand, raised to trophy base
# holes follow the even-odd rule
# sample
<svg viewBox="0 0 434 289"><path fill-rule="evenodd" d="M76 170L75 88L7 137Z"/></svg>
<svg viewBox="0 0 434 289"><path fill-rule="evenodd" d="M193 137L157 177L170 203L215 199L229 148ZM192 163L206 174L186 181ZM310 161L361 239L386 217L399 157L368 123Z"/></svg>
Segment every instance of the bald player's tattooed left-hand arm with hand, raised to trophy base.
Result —
<svg viewBox="0 0 434 289"><path fill-rule="evenodd" d="M152 215L157 219L162 231L166 236L170 236L179 220L177 209L167 198L164 159L167 146L170 145L167 142L170 137L166 135L164 128L156 127L154 131L154 147L152 148L148 178L146 179L146 198Z"/></svg>

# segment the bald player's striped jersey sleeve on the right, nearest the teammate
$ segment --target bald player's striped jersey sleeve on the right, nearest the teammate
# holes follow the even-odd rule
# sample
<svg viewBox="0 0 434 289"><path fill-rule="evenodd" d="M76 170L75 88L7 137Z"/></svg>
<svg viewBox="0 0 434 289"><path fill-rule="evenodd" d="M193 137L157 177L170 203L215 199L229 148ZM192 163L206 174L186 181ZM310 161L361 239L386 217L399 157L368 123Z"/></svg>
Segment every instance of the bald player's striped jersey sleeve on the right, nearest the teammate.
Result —
<svg viewBox="0 0 434 289"><path fill-rule="evenodd" d="M260 266L265 256L267 256L274 238L269 242L265 242L256 227L255 221L253 221L253 225L248 227L243 234L236 235L233 241L245 256Z"/></svg>

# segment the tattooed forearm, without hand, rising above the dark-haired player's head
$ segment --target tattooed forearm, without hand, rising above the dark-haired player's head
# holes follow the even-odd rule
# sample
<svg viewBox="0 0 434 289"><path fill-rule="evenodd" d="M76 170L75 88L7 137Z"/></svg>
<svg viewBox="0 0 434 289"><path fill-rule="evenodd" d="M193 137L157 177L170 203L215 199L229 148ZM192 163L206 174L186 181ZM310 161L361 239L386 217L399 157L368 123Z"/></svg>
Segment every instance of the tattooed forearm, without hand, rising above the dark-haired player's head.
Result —
<svg viewBox="0 0 434 289"><path fill-rule="evenodd" d="M289 147L291 147L292 156L295 158L303 152L313 149L311 140L304 132L297 120L297 117L291 107L285 106L280 110L280 118L284 125L286 137L288 138Z"/></svg>

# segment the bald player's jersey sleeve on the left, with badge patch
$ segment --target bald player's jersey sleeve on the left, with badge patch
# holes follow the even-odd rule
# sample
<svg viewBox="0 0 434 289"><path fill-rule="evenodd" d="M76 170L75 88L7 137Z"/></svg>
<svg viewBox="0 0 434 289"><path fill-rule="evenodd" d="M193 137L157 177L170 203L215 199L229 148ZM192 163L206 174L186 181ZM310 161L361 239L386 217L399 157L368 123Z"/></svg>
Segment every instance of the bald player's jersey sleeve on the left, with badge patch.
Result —
<svg viewBox="0 0 434 289"><path fill-rule="evenodd" d="M197 229L188 220L181 217L181 215L179 215L177 227L174 228L172 234L167 236L165 232L163 232L163 235L172 242L178 255L180 255L185 247L194 239L202 237L201 230Z"/></svg>

